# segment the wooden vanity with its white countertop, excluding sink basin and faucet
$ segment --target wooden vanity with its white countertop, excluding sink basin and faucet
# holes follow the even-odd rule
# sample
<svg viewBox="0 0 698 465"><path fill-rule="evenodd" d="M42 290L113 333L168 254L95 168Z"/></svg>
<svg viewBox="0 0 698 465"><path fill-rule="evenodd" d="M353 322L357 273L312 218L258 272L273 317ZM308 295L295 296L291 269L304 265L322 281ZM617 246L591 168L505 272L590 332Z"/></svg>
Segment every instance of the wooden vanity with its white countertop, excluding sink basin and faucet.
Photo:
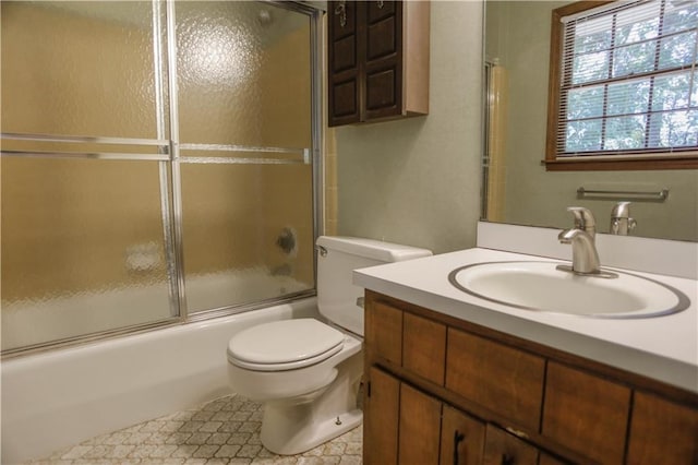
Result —
<svg viewBox="0 0 698 465"><path fill-rule="evenodd" d="M365 294L365 464L695 464L696 281L674 314L507 308L452 286L470 249L354 272ZM664 278L664 277L662 277Z"/></svg>

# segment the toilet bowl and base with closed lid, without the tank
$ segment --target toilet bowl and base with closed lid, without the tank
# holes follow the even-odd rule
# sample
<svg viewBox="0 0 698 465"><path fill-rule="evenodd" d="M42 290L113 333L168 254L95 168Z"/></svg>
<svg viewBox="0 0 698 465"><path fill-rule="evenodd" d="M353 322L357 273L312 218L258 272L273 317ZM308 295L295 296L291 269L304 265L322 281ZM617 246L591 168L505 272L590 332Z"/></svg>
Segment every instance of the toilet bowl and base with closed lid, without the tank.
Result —
<svg viewBox="0 0 698 465"><path fill-rule="evenodd" d="M327 344L323 347L313 344L312 336L296 337L293 333L299 331L308 336L313 329L317 333L334 332L338 341L329 337L323 341ZM285 343L293 347L278 351L279 357L252 361L250 354L240 357L242 349L237 337L228 345L230 386L264 404L260 439L266 449L277 454L299 454L361 424L357 394L363 353L359 337L313 319L277 321L246 331L238 336L252 339L263 337L266 332L272 335L269 339L256 338L258 346L264 341L274 341L277 347ZM303 347L299 342L310 344Z"/></svg>

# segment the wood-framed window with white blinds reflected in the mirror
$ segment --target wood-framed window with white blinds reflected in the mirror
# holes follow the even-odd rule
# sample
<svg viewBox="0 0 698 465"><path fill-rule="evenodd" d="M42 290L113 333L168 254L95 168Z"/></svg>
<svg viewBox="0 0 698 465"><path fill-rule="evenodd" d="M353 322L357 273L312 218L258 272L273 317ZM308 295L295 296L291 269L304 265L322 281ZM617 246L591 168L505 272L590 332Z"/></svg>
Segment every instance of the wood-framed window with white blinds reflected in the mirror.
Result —
<svg viewBox="0 0 698 465"><path fill-rule="evenodd" d="M575 2L551 40L547 169L698 167L698 2Z"/></svg>

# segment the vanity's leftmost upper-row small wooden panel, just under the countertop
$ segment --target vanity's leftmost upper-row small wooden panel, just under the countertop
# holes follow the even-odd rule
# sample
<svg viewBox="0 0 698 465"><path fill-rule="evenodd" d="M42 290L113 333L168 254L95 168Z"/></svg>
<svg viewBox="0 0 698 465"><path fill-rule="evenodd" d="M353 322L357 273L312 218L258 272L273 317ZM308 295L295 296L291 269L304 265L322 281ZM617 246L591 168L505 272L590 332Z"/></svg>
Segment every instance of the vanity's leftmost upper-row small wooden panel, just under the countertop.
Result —
<svg viewBox="0 0 698 465"><path fill-rule="evenodd" d="M402 362L402 310L377 300L368 300L365 312L366 347L373 355L396 365Z"/></svg>

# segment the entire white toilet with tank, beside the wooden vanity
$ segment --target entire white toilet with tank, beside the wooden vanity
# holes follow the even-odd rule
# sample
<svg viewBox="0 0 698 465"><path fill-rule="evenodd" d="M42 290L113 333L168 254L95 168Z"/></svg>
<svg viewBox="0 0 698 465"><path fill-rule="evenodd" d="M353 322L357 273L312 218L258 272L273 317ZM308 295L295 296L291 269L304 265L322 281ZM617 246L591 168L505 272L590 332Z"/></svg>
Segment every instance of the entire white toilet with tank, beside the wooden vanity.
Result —
<svg viewBox="0 0 698 465"><path fill-rule="evenodd" d="M269 451L305 452L361 424L363 289L360 267L431 255L371 239L322 236L316 242L317 308L325 321L293 319L241 331L228 344L233 392L264 405L261 440Z"/></svg>

